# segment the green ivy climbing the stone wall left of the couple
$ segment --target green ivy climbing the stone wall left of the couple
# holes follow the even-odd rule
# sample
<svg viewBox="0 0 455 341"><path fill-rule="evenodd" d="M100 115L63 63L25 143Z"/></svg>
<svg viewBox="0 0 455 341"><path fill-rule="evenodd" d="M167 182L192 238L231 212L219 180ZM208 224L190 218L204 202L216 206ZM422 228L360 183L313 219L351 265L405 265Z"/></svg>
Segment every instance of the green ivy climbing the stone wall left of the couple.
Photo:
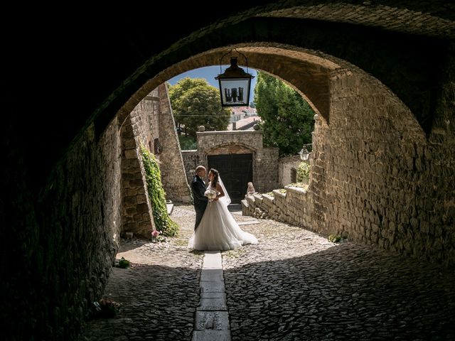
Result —
<svg viewBox="0 0 455 341"><path fill-rule="evenodd" d="M151 200L151 210L154 215L155 227L168 237L176 236L178 225L171 220L166 207L166 193L161 183L161 172L158 161L144 146L140 146L142 162L144 163L147 191Z"/></svg>

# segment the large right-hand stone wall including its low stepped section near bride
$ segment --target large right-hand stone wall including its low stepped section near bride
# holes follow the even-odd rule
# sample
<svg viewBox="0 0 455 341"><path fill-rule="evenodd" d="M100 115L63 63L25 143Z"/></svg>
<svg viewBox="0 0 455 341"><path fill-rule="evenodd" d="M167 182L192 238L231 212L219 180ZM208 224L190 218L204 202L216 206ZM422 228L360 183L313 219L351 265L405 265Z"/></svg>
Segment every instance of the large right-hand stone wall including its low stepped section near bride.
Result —
<svg viewBox="0 0 455 341"><path fill-rule="evenodd" d="M316 116L309 192L249 197L244 212L455 264L454 141L442 128L427 138L377 80L333 72L330 121Z"/></svg>

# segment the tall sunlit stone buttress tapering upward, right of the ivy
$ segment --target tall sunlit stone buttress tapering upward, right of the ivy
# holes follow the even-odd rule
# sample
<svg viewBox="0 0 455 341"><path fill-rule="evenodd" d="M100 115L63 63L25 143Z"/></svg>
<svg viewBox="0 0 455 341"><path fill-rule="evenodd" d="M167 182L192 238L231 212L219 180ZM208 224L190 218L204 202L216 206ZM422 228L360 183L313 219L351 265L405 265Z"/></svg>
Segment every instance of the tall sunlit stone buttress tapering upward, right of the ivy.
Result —
<svg viewBox="0 0 455 341"><path fill-rule="evenodd" d="M166 199L174 202L191 202L176 124L165 84L159 86L159 126L159 140L162 145L159 154L159 160L162 161L160 171Z"/></svg>

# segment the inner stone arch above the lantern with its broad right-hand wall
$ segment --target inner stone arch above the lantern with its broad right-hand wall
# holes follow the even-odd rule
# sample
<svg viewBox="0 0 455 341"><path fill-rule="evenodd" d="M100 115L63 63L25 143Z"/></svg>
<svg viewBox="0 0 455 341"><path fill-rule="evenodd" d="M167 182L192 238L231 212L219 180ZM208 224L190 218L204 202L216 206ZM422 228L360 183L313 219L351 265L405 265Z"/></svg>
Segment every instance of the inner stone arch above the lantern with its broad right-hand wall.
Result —
<svg viewBox="0 0 455 341"><path fill-rule="evenodd" d="M311 194L306 209L307 227L323 233L342 233L402 254L427 259L444 257L436 251L439 246L427 247L435 241L427 228L431 223L424 213L424 200L405 198L415 197L416 190L427 193L424 182L434 182L434 175L424 171L428 167L425 164L434 162L427 155L452 153L451 149L428 141L425 129L429 126L424 124L427 117L416 115L390 88L359 67L333 55L296 46L242 43L207 50L183 60L146 82L142 89L172 77L175 70L215 65L232 48L247 55L250 67L288 82L319 114ZM126 113L128 103L119 112L120 117ZM407 160L405 163L403 158ZM451 169L450 161L441 162L444 169ZM416 171L419 178L426 180L405 186L410 183L410 172ZM390 190L389 183L403 185ZM437 186L441 193L446 193L438 202L439 207L445 207L450 194L443 183L437 182ZM395 205L397 201L401 208ZM402 209L412 213L402 215ZM421 224L426 232L422 233ZM441 233L451 232L445 227ZM420 237L410 239L410 234ZM436 243L439 245L441 241Z"/></svg>

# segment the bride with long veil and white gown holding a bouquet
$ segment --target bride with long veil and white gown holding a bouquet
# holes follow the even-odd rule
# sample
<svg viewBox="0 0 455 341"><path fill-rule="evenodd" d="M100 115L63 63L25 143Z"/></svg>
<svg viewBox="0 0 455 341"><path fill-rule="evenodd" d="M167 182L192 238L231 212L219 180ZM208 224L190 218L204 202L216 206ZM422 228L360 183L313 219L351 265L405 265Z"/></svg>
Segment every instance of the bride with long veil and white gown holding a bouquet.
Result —
<svg viewBox="0 0 455 341"><path fill-rule="evenodd" d="M230 197L216 169L208 172L207 208L188 248L196 250L230 250L245 244L257 244L257 238L240 229L228 210Z"/></svg>

